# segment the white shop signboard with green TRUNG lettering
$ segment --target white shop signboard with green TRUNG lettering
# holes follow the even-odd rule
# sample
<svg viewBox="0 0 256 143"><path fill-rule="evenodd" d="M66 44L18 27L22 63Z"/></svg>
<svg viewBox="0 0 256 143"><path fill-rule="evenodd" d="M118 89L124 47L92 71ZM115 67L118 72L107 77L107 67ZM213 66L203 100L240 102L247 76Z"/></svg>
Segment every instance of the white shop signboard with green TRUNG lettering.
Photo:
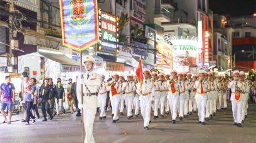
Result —
<svg viewBox="0 0 256 143"><path fill-rule="evenodd" d="M177 57L184 57L188 51L188 61L193 66L197 65L198 42L193 40L171 40L170 42L173 44L172 51Z"/></svg>

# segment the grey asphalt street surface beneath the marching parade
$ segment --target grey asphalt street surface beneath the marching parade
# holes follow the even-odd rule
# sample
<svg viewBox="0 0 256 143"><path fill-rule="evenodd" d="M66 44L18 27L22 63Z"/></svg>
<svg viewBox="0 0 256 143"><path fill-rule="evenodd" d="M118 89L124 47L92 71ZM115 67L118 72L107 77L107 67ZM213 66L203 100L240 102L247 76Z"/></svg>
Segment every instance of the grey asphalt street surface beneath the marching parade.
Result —
<svg viewBox="0 0 256 143"><path fill-rule="evenodd" d="M170 114L154 120L152 112L148 131L143 127L141 114L128 120L124 109L124 114L119 114L119 121L113 124L111 113L107 111L107 119L104 120L99 120L99 114L96 114L95 142L256 142L256 105L249 104L248 118L241 128L233 125L230 102L227 110L217 112L214 119L206 121L206 125L198 123L197 113L182 121L177 118L176 124L172 124ZM14 114L15 119L20 116L20 120L11 122L11 125L0 124L0 142L82 142L81 118L75 114L59 115L47 122L40 118L30 125L21 122L23 114Z"/></svg>

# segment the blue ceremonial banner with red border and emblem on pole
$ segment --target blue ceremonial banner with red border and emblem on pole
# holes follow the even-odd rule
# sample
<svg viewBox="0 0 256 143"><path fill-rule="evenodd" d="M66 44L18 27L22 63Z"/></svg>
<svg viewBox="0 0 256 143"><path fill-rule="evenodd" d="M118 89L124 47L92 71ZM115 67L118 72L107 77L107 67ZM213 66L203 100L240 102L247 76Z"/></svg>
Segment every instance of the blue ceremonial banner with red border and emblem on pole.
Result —
<svg viewBox="0 0 256 143"><path fill-rule="evenodd" d="M63 45L82 51L99 41L96 0L59 0Z"/></svg>

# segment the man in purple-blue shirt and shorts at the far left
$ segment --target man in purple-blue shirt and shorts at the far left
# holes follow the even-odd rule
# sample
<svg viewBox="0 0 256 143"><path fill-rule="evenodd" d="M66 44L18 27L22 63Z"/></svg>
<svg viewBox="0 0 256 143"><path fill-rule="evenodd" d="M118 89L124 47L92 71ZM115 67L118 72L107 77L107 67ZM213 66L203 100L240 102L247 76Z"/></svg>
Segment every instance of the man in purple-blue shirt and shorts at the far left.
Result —
<svg viewBox="0 0 256 143"><path fill-rule="evenodd" d="M8 110L8 116L9 116L9 121L8 124L11 124L11 115L13 115L13 113L11 112L13 109L13 102L15 101L15 87L13 85L13 83L11 82L11 77L10 76L5 76L5 83L1 84L0 87L0 102L2 105L1 108L1 112L4 116L4 121L2 122L5 123L7 122L7 118L6 118L6 114L4 112L5 108L7 107ZM3 101L1 101L1 96L3 94Z"/></svg>

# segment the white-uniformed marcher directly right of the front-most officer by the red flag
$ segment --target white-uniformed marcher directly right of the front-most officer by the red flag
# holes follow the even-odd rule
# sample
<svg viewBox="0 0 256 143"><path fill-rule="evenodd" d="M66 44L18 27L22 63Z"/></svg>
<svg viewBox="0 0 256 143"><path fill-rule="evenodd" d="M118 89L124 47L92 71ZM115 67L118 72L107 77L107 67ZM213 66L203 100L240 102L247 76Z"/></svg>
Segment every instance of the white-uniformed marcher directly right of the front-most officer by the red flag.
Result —
<svg viewBox="0 0 256 143"><path fill-rule="evenodd" d="M159 103L160 103L160 98L161 98L161 90L162 90L162 86L160 84L160 81L157 80L157 73L156 72L152 72L151 73L152 76L152 80L154 81L154 86L155 86L155 103L153 106L153 110L154 110L154 116L153 119L159 118L158 116L158 108L159 108Z"/></svg>

